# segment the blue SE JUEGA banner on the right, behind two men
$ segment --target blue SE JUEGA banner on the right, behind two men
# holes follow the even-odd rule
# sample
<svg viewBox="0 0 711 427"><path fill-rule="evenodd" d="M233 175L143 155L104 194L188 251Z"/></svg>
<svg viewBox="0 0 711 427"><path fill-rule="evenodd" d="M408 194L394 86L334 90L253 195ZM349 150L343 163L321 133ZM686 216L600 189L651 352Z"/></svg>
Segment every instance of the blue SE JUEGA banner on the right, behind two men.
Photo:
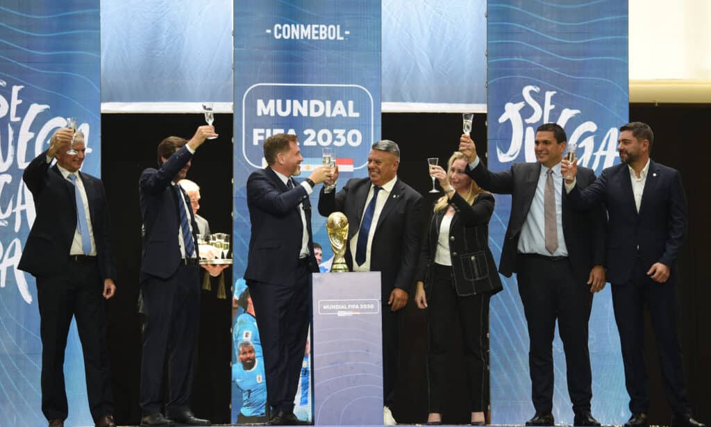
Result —
<svg viewBox="0 0 711 427"><path fill-rule="evenodd" d="M627 2L617 0L488 1L488 166L535 161L535 129L564 127L577 157L597 175L618 162L617 128L628 119ZM496 196L491 248L501 255L510 196ZM492 299L493 422L520 424L533 416L528 332L515 276ZM557 336L557 335L556 335ZM594 297L589 329L592 412L603 424L628 416L622 359L609 286ZM555 359L554 416L572 424L560 338Z"/></svg>

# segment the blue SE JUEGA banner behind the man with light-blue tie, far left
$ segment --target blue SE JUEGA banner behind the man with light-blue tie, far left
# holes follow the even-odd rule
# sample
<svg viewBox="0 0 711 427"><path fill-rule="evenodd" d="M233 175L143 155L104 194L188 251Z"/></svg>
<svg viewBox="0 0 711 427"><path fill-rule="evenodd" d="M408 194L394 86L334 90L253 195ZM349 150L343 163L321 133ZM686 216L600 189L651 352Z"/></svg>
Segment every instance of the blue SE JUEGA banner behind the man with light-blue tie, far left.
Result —
<svg viewBox="0 0 711 427"><path fill-rule="evenodd" d="M7 426L41 426L37 293L16 269L35 218L22 173L65 117L77 117L82 171L100 174L99 0L2 1L0 15L0 414ZM93 424L74 326L65 375L66 425Z"/></svg>

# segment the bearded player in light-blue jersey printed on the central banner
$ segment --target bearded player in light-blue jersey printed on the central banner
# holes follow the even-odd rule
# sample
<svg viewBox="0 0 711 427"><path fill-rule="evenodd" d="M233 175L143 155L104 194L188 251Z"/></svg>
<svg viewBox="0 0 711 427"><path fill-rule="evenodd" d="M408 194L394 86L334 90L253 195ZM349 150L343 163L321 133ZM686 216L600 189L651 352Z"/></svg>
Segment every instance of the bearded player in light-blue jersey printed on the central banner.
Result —
<svg viewBox="0 0 711 427"><path fill-rule="evenodd" d="M239 363L232 365L232 382L242 391L242 408L237 423L263 422L267 384L264 382L264 364L257 358L251 341L237 345L237 361Z"/></svg>

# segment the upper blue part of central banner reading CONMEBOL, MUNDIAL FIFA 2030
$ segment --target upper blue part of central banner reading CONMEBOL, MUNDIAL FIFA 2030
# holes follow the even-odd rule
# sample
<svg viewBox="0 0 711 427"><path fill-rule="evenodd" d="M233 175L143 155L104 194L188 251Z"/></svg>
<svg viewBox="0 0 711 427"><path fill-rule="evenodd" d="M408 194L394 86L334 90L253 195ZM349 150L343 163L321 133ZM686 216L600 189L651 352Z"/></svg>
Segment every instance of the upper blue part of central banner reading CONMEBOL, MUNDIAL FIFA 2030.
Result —
<svg viewBox="0 0 711 427"><path fill-rule="evenodd" d="M264 139L279 132L299 136L299 180L321 166L323 147L338 158L338 188L366 175L370 145L380 139L380 0L298 6L237 0L234 57L236 280L244 274L250 239L245 185L264 166ZM311 195L311 225L326 260L332 256L326 219L315 208L320 189Z"/></svg>

